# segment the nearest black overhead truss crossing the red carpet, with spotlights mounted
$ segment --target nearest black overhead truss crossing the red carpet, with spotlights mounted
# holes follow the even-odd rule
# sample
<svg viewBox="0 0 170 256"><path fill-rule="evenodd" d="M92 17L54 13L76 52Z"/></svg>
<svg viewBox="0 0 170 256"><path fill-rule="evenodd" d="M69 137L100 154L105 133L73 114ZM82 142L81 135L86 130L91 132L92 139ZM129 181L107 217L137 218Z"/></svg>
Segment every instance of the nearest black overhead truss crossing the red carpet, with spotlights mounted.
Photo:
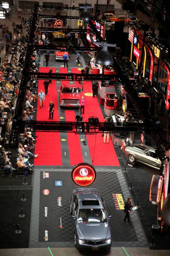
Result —
<svg viewBox="0 0 170 256"><path fill-rule="evenodd" d="M21 121L21 126L42 132L103 133L144 133L144 123L105 123L90 125L89 122Z"/></svg>

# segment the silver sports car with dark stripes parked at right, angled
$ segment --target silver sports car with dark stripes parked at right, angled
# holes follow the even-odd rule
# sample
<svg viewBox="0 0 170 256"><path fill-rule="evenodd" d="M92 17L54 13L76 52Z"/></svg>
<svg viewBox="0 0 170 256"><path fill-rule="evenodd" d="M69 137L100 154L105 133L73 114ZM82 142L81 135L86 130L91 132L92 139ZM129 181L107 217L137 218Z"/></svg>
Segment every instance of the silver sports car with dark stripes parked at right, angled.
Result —
<svg viewBox="0 0 170 256"><path fill-rule="evenodd" d="M159 170L161 161L155 151L156 148L143 144L134 144L125 148L125 154L130 162L138 161Z"/></svg>

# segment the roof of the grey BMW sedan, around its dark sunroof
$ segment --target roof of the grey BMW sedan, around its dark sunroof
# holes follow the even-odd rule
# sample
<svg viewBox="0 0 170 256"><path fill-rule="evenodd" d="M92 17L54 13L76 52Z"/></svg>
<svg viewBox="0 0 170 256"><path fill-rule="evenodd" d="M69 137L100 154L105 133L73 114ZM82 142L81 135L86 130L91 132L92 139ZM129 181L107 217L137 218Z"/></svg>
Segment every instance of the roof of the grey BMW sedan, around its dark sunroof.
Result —
<svg viewBox="0 0 170 256"><path fill-rule="evenodd" d="M76 193L79 202L79 209L101 209L103 208L103 203L101 200L101 195L98 192L78 192ZM82 201L99 201L99 205L83 205Z"/></svg>

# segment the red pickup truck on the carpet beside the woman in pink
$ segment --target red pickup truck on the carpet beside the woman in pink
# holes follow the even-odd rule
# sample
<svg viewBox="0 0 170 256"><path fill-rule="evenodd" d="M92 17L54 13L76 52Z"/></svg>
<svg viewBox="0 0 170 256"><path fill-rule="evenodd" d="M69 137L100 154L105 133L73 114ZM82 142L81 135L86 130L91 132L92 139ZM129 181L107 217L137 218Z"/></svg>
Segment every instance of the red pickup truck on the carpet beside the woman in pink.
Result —
<svg viewBox="0 0 170 256"><path fill-rule="evenodd" d="M60 107L80 107L81 90L77 85L59 87Z"/></svg>

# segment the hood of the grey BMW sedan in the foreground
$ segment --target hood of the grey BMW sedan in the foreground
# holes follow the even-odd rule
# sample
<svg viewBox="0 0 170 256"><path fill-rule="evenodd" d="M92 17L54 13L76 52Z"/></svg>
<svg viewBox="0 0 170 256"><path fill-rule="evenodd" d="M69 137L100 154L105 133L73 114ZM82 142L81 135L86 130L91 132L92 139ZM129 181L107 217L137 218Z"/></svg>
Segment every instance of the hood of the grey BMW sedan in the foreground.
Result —
<svg viewBox="0 0 170 256"><path fill-rule="evenodd" d="M78 229L85 240L105 240L108 229L110 229L107 222L105 223L77 223ZM81 238L79 235L79 238Z"/></svg>

